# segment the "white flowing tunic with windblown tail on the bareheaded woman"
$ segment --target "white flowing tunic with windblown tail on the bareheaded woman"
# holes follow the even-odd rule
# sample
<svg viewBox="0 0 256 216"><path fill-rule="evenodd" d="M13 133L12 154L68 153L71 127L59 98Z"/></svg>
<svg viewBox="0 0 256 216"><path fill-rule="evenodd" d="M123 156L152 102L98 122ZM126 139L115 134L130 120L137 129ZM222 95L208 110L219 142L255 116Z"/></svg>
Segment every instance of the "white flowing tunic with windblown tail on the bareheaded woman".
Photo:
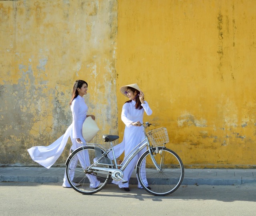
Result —
<svg viewBox="0 0 256 216"><path fill-rule="evenodd" d="M79 95L74 98L71 104L71 111L73 121L66 130L65 134L63 134L60 138L58 138L58 140L49 146L33 146L32 148L28 149L28 153L30 154L32 160L46 167L47 169L49 169L60 157L69 137L71 138L73 144L71 147L72 150L79 147L78 143L76 142L76 138L80 138L84 143L86 142L82 135L82 127L88 111L88 106L84 102L84 98Z"/></svg>

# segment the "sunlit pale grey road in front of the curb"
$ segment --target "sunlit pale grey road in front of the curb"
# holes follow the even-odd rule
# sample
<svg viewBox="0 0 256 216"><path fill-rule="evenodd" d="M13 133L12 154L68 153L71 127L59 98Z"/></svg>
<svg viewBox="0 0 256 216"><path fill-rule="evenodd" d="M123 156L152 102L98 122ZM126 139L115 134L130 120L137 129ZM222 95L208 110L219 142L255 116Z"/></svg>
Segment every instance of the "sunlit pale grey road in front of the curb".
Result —
<svg viewBox="0 0 256 216"><path fill-rule="evenodd" d="M247 216L256 214L256 183L233 186L183 185L156 197L130 186L108 184L82 195L61 183L0 182L2 216Z"/></svg>

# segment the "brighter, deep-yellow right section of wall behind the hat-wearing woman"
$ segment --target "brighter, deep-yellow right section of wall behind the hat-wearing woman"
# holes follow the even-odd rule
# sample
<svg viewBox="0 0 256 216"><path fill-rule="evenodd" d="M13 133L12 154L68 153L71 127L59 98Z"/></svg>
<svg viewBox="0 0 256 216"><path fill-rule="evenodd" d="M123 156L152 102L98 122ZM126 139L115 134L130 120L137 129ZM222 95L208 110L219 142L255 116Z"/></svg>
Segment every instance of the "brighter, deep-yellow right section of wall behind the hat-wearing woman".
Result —
<svg viewBox="0 0 256 216"><path fill-rule="evenodd" d="M256 2L120 0L119 88L137 82L186 167L255 166ZM122 136L124 124L118 120Z"/></svg>

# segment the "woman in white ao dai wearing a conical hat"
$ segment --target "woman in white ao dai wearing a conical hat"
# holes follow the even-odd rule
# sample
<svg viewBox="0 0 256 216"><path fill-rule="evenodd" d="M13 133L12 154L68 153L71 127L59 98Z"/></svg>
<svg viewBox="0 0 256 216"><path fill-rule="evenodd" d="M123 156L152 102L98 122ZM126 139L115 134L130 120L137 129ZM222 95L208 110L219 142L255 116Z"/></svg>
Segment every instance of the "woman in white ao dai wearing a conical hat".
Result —
<svg viewBox="0 0 256 216"><path fill-rule="evenodd" d="M125 124L124 139L123 141L114 147L116 156L120 156L124 152L124 156L128 155L131 150L137 146L142 140L144 140L144 132L142 126L144 112L148 116L152 114L152 110L148 106L148 103L144 101L144 93L140 90L137 84L130 84L122 86L120 91L124 96L128 97L122 108L121 119ZM145 148L146 151L146 148ZM141 151L137 154L128 166L124 169L124 180L127 183L122 184L122 181L112 181L114 184L118 184L119 188L123 188L125 191L129 189L129 179L132 172L138 162L140 156L145 152ZM138 188L142 188L138 183Z"/></svg>

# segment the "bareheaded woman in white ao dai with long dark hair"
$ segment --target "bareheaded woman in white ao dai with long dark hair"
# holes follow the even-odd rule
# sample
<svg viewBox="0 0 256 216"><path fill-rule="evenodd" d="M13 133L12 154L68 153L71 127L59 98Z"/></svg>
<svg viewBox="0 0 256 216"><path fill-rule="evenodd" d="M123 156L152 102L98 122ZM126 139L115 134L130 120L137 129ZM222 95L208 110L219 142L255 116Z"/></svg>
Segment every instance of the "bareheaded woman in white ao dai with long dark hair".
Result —
<svg viewBox="0 0 256 216"><path fill-rule="evenodd" d="M88 106L84 102L83 98L83 96L87 94L87 87L88 84L84 80L76 80L76 82L74 83L72 98L70 100L70 108L72 111L73 120L72 124L66 130L65 134L63 134L60 138L58 138L58 140L56 140L49 146L33 146L32 148L28 149L28 153L30 154L31 158L38 164L41 164L42 166L49 169L62 154L69 137L72 141L70 152L71 150L74 151L76 148L80 147L82 143L86 143L82 135L82 127L84 120L86 119L86 117L89 116L87 115ZM94 115L90 116L93 120L95 120ZM97 180L96 177L88 176L88 178L90 179L90 187L98 187L100 182ZM79 185L74 182L73 184L76 186ZM62 186L64 188L71 187L68 183L66 172L64 175Z"/></svg>

